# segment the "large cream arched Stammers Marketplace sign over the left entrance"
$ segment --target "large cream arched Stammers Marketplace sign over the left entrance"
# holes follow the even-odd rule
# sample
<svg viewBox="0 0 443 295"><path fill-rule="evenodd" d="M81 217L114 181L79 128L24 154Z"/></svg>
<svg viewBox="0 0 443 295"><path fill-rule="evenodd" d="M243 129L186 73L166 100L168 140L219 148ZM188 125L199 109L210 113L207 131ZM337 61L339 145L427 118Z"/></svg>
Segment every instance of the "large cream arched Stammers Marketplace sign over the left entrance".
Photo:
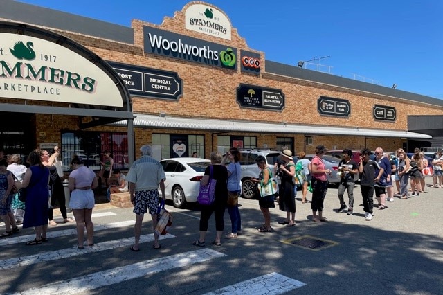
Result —
<svg viewBox="0 0 443 295"><path fill-rule="evenodd" d="M0 97L123 107L98 66L53 42L0 33Z"/></svg>

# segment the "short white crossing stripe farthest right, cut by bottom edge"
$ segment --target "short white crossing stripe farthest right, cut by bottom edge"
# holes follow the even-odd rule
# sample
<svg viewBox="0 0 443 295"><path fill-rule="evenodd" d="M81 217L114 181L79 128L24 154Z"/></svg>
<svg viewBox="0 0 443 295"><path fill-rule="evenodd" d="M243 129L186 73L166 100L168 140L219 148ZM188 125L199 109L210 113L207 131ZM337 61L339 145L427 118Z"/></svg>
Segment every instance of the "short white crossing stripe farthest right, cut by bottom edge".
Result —
<svg viewBox="0 0 443 295"><path fill-rule="evenodd" d="M243 282L217 289L214 292L206 293L204 295L274 295L286 293L304 285L306 284L300 282L299 280L293 280L292 278L288 278L287 276L282 276L281 274L273 272L271 274L265 274L264 276L252 278L251 280L244 280Z"/></svg>

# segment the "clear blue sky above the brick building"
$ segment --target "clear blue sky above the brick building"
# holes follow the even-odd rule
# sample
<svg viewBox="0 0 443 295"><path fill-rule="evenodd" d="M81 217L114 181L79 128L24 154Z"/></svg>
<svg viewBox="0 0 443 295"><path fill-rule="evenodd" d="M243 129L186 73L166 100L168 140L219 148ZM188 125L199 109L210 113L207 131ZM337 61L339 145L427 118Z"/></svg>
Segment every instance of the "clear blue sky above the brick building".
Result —
<svg viewBox="0 0 443 295"><path fill-rule="evenodd" d="M161 24L190 1L20 2L130 26L132 19ZM296 65L317 59L307 69L443 99L443 1L206 2L223 10L266 60Z"/></svg>

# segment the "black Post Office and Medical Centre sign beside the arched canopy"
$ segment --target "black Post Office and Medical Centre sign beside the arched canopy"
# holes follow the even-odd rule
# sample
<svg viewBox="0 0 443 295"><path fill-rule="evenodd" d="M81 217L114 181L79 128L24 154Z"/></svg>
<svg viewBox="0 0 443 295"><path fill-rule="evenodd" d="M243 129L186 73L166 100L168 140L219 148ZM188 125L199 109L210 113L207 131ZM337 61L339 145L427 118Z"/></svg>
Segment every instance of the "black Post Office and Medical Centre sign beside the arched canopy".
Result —
<svg viewBox="0 0 443 295"><path fill-rule="evenodd" d="M109 62L133 96L177 100L183 96L179 75L130 64Z"/></svg>

